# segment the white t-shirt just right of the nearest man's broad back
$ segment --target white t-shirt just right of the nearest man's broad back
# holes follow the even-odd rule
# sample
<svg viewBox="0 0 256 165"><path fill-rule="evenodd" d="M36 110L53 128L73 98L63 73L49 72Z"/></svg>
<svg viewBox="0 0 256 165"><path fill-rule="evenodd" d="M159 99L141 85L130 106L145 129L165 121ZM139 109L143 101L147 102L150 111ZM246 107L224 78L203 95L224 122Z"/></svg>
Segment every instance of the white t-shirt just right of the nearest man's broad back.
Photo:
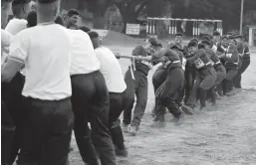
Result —
<svg viewBox="0 0 256 165"><path fill-rule="evenodd" d="M89 35L81 30L68 29L72 40L71 75L90 74L100 70L94 46Z"/></svg>

